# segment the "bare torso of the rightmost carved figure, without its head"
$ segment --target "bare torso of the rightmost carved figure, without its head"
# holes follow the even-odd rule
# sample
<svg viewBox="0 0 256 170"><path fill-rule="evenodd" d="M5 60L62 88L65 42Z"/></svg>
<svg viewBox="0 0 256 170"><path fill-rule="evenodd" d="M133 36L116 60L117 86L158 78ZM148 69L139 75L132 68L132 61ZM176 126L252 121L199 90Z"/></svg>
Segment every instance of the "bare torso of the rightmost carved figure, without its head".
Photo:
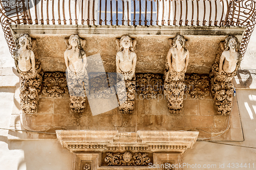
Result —
<svg viewBox="0 0 256 170"><path fill-rule="evenodd" d="M236 70L237 62L239 59L239 53L231 52L231 51L224 51L222 53L222 56L225 57L224 64L223 64L223 70L227 73L232 73L234 70Z"/></svg>

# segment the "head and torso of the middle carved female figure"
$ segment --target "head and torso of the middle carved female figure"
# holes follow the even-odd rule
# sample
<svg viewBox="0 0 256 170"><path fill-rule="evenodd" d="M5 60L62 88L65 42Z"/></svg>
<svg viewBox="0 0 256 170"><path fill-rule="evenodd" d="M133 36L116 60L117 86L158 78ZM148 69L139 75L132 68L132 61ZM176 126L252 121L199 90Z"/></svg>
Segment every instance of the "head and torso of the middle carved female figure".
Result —
<svg viewBox="0 0 256 170"><path fill-rule="evenodd" d="M132 80L135 76L137 61L137 55L133 50L133 46L131 37L123 35L120 39L119 52L116 54L116 71L120 74L128 73L127 79L129 80Z"/></svg>

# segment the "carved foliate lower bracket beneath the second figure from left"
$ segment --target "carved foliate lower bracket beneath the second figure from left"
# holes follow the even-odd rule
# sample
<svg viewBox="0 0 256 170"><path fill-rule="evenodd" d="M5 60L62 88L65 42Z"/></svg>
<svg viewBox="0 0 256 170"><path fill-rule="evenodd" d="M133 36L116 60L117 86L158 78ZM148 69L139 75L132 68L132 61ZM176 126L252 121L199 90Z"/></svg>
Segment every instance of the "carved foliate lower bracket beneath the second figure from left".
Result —
<svg viewBox="0 0 256 170"><path fill-rule="evenodd" d="M89 89L88 75L85 70L77 72L66 72L67 84L69 88L70 109L73 113L82 113L86 108L87 95Z"/></svg>

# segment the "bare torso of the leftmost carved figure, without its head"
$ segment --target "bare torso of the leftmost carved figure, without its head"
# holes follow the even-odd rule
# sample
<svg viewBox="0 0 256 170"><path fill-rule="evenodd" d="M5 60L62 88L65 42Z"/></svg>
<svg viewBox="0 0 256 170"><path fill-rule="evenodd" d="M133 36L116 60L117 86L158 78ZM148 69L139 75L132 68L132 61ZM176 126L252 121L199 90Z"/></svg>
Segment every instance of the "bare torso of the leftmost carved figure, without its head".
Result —
<svg viewBox="0 0 256 170"><path fill-rule="evenodd" d="M15 50L13 54L15 59L18 60L18 68L20 71L31 70L31 55L34 55L31 50L22 50L19 48L18 50Z"/></svg>

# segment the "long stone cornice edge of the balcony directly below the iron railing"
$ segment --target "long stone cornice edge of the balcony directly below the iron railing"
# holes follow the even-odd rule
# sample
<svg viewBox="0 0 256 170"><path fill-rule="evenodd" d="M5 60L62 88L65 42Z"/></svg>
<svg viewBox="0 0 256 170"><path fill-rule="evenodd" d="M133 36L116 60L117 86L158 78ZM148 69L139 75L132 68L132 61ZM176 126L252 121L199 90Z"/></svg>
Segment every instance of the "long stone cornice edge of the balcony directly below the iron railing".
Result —
<svg viewBox="0 0 256 170"><path fill-rule="evenodd" d="M133 35L240 35L243 36L246 27L200 27L200 26L78 26L78 25L11 25L13 35L30 34L45 36L46 34L67 35L122 35L129 32Z"/></svg>

